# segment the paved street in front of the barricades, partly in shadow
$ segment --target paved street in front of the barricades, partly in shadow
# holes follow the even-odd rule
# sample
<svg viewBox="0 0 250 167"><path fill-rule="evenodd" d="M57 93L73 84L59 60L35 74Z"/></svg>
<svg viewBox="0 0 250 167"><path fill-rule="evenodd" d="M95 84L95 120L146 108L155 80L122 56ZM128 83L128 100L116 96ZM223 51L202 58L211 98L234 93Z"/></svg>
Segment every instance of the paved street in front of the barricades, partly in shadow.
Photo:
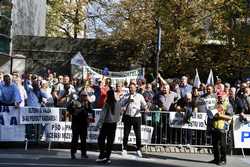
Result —
<svg viewBox="0 0 250 167"><path fill-rule="evenodd" d="M38 166L38 167L96 167L107 166L97 164L95 159L97 152L88 152L89 159L69 159L69 150L54 149L48 151L46 149L30 149L24 151L22 149L1 149L0 150L0 167L16 167L16 166ZM80 157L80 153L77 153ZM120 152L114 152L112 155L112 163L108 166L112 167L216 167L215 164L209 164L212 160L210 154L185 154L185 153L154 153L144 154L143 158L137 158L134 152L129 152L127 157L122 157ZM250 165L250 157L245 159L242 156L228 156L228 167L248 167Z"/></svg>

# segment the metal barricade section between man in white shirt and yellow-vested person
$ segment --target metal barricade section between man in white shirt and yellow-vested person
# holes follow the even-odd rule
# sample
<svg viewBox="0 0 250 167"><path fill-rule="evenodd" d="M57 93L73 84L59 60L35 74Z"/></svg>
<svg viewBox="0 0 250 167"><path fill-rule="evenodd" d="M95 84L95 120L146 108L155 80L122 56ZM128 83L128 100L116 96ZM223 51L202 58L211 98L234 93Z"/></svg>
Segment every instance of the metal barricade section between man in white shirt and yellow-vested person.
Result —
<svg viewBox="0 0 250 167"><path fill-rule="evenodd" d="M211 147L212 137L206 130L170 127L169 112L151 111L143 113L142 124L154 128L152 145Z"/></svg>

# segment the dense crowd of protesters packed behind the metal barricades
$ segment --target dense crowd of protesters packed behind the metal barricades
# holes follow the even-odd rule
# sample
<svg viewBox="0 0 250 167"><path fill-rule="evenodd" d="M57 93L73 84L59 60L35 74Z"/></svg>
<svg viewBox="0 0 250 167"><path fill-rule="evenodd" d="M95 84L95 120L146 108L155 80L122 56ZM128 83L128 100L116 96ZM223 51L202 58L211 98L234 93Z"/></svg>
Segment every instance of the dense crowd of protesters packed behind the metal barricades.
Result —
<svg viewBox="0 0 250 167"><path fill-rule="evenodd" d="M240 114L242 121L246 121L244 114L250 110L250 82L231 86L229 83L223 84L218 78L215 85L201 84L197 88L188 83L186 76L171 83L167 83L161 76L159 80L158 89L154 82L147 83L145 79L131 81L136 83L137 92L143 95L150 110L157 108L163 111L183 111L189 101L197 111L201 98L210 102L207 105L211 110L218 99L221 99L230 105L231 112ZM111 82L110 78L83 81L68 75L57 76L55 73L41 77L34 74L21 76L18 72L11 75L0 72L0 103L19 107L66 107L73 94L85 91L92 107L102 108ZM112 89L119 96L123 96L128 93L127 85L118 83Z"/></svg>

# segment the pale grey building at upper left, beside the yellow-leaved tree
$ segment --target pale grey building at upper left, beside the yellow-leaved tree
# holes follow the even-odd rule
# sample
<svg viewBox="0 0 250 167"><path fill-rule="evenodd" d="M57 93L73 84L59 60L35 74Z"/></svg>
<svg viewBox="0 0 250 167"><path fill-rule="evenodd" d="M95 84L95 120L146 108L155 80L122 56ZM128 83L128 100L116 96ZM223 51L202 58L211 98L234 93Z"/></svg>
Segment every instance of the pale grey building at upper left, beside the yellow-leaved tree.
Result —
<svg viewBox="0 0 250 167"><path fill-rule="evenodd" d="M0 70L23 71L25 56L12 52L13 39L17 35L45 36L45 26L46 0L0 0Z"/></svg>

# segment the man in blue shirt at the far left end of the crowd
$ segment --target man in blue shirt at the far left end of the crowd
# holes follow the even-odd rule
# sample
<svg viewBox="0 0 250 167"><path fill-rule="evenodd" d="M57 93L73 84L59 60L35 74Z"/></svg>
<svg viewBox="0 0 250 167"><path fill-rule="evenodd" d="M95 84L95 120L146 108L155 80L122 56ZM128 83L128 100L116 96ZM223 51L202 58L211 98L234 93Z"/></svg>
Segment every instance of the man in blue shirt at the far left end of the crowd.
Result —
<svg viewBox="0 0 250 167"><path fill-rule="evenodd" d="M21 102L17 85L12 83L10 75L4 75L3 83L0 85L0 105L19 107Z"/></svg>

